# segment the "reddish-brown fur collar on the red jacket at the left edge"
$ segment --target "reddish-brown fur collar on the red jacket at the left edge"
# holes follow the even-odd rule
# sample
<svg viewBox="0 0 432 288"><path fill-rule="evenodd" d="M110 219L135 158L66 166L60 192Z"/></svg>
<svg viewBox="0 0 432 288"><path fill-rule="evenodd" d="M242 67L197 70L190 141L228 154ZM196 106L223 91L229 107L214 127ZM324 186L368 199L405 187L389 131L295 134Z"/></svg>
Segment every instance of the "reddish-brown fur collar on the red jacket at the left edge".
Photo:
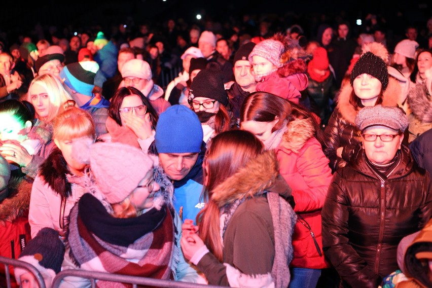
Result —
<svg viewBox="0 0 432 288"><path fill-rule="evenodd" d="M30 192L32 183L22 177L14 177L9 181L10 195L0 202L0 225L12 222L23 215L30 206Z"/></svg>

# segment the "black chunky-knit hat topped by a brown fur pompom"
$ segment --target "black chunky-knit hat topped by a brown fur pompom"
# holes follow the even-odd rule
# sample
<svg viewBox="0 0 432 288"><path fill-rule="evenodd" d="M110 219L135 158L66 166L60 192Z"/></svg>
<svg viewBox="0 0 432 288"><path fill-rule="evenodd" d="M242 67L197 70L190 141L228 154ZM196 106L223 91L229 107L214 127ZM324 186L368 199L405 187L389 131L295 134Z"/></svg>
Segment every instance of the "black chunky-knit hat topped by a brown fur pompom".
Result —
<svg viewBox="0 0 432 288"><path fill-rule="evenodd" d="M382 85L382 91L387 89L388 85L388 69L387 64L381 57L373 54L372 52L366 52L360 58L358 58L357 62L355 62L354 67L351 71L350 83L354 82L354 79L358 75L369 74L378 79Z"/></svg>

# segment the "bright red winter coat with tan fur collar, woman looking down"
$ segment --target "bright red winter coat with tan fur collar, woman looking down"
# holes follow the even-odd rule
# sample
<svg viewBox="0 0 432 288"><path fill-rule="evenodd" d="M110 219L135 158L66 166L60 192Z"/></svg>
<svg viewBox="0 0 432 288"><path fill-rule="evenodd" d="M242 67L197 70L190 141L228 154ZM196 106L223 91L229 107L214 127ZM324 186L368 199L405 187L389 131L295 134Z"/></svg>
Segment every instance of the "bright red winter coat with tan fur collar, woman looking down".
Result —
<svg viewBox="0 0 432 288"><path fill-rule="evenodd" d="M321 238L321 208L332 180L329 160L314 135L311 119L289 122L276 156L279 173L293 190L296 205L294 211L310 225L321 256L310 231L301 223L300 217L294 228L294 259L291 267L321 269L329 267L324 259ZM306 224L307 225L307 224Z"/></svg>

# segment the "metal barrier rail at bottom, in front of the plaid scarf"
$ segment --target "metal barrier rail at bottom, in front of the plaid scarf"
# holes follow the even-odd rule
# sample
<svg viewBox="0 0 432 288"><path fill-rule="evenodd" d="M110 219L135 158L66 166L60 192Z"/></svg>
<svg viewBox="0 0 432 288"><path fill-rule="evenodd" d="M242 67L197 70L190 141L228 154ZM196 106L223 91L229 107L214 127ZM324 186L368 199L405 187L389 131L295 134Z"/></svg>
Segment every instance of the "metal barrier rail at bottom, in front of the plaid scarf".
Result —
<svg viewBox="0 0 432 288"><path fill-rule="evenodd" d="M56 275L52 283L52 288L61 287L61 282L63 278L69 276L89 279L91 281L92 288L96 287L96 279L112 281L112 282L128 283L128 284L132 284L133 288L136 288L137 285L147 285L153 287L169 287L169 288L204 288L204 287L220 288L221 287L221 286L204 285L204 284L196 284L196 283L181 282L181 281L160 280L160 279L153 279L153 278L146 278L146 277L68 269L68 270L63 270Z"/></svg>

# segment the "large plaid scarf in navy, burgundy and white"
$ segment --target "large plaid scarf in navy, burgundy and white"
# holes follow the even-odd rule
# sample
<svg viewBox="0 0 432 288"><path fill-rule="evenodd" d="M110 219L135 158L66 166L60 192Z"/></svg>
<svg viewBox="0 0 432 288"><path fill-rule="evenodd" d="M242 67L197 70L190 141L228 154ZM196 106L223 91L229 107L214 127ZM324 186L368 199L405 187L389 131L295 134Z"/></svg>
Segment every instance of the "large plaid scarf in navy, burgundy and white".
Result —
<svg viewBox="0 0 432 288"><path fill-rule="evenodd" d="M112 217L93 195L84 194L70 211L70 256L82 269L172 279L174 225L169 209L152 208L128 219ZM97 282L98 287L125 287Z"/></svg>

